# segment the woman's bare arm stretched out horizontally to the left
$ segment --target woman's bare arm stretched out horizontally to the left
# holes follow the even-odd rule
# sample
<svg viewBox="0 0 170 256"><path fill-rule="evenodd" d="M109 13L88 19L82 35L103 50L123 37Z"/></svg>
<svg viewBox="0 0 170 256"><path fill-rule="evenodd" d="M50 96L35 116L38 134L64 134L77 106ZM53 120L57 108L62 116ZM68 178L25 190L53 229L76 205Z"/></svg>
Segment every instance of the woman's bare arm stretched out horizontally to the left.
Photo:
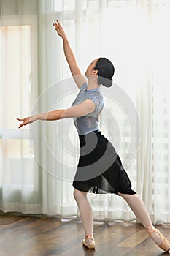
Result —
<svg viewBox="0 0 170 256"><path fill-rule="evenodd" d="M92 113L94 110L94 102L91 99L86 99L84 102L65 110L53 110L48 113L39 113L26 118L17 118L17 120L22 122L19 126L21 128L23 125L31 124L37 120L54 121L69 117L80 117L88 115L88 113Z"/></svg>

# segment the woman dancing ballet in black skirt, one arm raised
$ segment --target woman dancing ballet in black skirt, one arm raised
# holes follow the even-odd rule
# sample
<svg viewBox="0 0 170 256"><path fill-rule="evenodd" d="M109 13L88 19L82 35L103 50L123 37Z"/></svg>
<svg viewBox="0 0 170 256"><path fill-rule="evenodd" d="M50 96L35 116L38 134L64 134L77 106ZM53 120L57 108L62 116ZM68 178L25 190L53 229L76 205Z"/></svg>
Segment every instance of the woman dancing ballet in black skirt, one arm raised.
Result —
<svg viewBox="0 0 170 256"><path fill-rule="evenodd" d="M110 192L123 197L136 217L146 227L155 244L168 252L170 249L169 241L153 227L143 201L131 189L131 181L123 169L115 148L104 135L101 135L98 129L98 116L104 107L101 85L112 86L112 76L115 72L114 66L106 58L95 59L88 66L85 78L77 66L77 61L61 23L56 20L53 26L63 39L66 61L80 92L72 103L71 108L40 113L27 118L18 118L18 121L22 122L19 128L36 120L50 121L74 118L74 124L80 139L80 159L73 181L74 198L77 201L85 230L85 239L82 241L85 246L89 249L94 249L96 246L93 238L93 211L88 201L87 193Z"/></svg>

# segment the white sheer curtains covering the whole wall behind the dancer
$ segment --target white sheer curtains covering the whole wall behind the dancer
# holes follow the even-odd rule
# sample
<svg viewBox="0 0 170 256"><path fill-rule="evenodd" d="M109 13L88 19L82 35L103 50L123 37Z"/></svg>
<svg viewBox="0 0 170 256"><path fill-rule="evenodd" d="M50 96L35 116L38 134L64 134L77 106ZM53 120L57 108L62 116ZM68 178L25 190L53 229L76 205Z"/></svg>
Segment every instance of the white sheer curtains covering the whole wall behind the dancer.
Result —
<svg viewBox="0 0 170 256"><path fill-rule="evenodd" d="M72 178L79 154L73 121L39 122L30 126L29 133L28 127L18 132L14 121L18 115L68 108L78 92L63 56L61 38L53 30L52 23L58 18L66 29L82 72L98 56L106 56L115 64L115 86L102 89L105 108L101 132L120 154L133 189L146 203L152 221L170 222L169 4L168 0L42 0L34 1L34 5L15 1L10 9L11 1L1 1L2 211L65 217L78 214L72 196ZM10 31L11 18L19 18L15 35ZM28 40L23 31L28 34ZM13 73L7 64L10 58L3 55L10 53L9 37L12 40L18 37L15 44L18 58L7 54L18 59ZM31 46L28 41L33 42ZM29 50L23 50L24 47L31 49L30 56L25 57ZM31 62L26 65L24 58ZM23 67L27 67L25 71ZM35 70L38 80L36 76L32 78ZM30 72L31 82L23 81L29 78ZM14 78L16 73L20 83ZM18 94L12 91L14 81ZM16 158L15 163L12 158ZM29 164L28 159L32 161ZM29 196L30 190L33 197ZM121 197L89 195L89 199L95 219L135 219Z"/></svg>

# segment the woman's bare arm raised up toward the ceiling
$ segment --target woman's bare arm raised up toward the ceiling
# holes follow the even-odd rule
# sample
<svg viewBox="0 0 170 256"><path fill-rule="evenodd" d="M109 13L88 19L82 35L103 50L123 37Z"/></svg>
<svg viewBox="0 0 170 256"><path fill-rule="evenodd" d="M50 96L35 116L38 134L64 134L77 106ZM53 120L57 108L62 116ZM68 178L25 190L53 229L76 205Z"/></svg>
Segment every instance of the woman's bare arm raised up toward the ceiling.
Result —
<svg viewBox="0 0 170 256"><path fill-rule="evenodd" d="M56 23L53 23L53 26L55 26L55 30L57 31L58 35L63 39L63 51L66 56L66 61L69 64L69 68L72 72L72 76L74 78L75 83L80 88L82 83L85 83L86 80L85 77L82 75L80 68L77 65L77 61L75 59L72 48L69 45L69 40L66 37L66 33L58 20L56 20Z"/></svg>

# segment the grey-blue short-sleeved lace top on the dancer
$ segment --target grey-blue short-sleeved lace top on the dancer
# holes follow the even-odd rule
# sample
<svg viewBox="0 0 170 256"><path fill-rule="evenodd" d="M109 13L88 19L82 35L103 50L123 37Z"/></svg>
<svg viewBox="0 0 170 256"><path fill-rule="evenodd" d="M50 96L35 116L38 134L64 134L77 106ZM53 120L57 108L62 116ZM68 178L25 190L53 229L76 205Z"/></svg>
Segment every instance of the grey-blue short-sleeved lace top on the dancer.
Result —
<svg viewBox="0 0 170 256"><path fill-rule="evenodd" d="M80 116L74 118L74 125L79 135L86 135L93 132L98 128L98 116L101 114L101 110L104 108L104 95L101 92L101 88L88 89L88 84L83 83L80 87L79 94L72 102L72 106L84 102L86 99L91 99L95 103L95 110L86 116Z"/></svg>

